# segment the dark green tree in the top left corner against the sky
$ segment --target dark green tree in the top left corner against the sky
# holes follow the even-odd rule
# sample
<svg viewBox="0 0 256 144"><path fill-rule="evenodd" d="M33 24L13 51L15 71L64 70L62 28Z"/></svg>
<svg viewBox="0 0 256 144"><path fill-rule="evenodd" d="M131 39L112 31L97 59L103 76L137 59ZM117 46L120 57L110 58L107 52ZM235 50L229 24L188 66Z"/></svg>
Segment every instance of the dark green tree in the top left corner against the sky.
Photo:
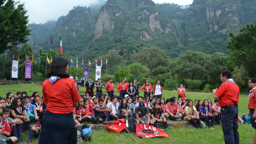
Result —
<svg viewBox="0 0 256 144"><path fill-rule="evenodd" d="M28 16L24 4L5 1L0 1L0 53L10 49L13 44L27 42L27 35L31 31L27 29Z"/></svg>

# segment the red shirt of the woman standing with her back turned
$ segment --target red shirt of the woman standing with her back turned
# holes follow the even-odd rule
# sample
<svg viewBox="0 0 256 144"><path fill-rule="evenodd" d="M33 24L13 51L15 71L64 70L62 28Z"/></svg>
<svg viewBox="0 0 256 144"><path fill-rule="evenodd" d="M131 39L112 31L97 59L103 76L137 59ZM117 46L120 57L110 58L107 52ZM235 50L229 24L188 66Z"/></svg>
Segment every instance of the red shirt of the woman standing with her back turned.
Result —
<svg viewBox="0 0 256 144"><path fill-rule="evenodd" d="M49 79L43 82L43 101L47 110L54 114L68 114L74 110L74 101L81 99L71 78L59 78L51 83Z"/></svg>

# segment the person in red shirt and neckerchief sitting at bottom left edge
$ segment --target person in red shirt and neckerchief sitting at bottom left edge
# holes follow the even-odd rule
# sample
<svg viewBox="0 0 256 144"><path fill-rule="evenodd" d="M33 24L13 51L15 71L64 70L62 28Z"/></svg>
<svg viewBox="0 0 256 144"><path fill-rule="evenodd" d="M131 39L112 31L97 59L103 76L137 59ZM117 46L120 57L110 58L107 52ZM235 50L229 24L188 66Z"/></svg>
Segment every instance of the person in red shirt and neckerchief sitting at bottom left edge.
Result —
<svg viewBox="0 0 256 144"><path fill-rule="evenodd" d="M17 137L11 135L11 127L5 119L8 118L10 111L8 108L0 109L0 139L5 141L7 144L17 142Z"/></svg>

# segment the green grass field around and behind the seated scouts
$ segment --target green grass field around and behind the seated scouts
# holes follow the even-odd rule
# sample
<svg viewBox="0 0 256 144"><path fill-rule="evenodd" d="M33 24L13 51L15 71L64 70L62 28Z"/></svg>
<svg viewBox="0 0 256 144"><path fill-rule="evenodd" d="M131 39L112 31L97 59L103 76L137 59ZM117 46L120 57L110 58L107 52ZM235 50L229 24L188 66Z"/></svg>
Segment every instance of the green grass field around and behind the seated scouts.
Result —
<svg viewBox="0 0 256 144"><path fill-rule="evenodd" d="M84 87L79 88L80 91L85 91ZM116 90L116 89L115 89ZM38 91L39 95L42 96L42 88L41 85L36 84L26 84L26 85L0 85L0 96L6 97L6 93L8 91L13 92L16 95L17 91L27 91L28 95L32 95L33 91ZM84 94L81 93L81 94ZM203 92L187 92L186 93L188 99L207 99L211 98L213 101L212 93L203 93ZM141 93L141 96L143 94ZM163 96L166 98L170 98L173 96L177 97L176 91L166 91L164 90ZM239 115L248 114L247 109L247 101L248 96L245 94L240 94L239 103L238 103L238 113ZM210 129L196 129L191 127L186 128L169 128L169 132L167 134L171 136L171 138L154 138L154 139L146 139L139 138L136 134L133 134L135 139L140 144L151 144L151 143L174 143L174 144L194 144L194 143L208 143L208 144L224 144L223 133L221 126L215 126L215 130ZM240 143L241 144L250 144L252 143L253 136L255 130L251 127L251 125L241 125L239 124L238 132L240 134ZM26 140L26 135L23 135L23 140ZM87 142L84 142L87 143ZM108 133L107 130L98 130L93 131L92 140L90 143L135 143L132 137L125 132L122 133Z"/></svg>

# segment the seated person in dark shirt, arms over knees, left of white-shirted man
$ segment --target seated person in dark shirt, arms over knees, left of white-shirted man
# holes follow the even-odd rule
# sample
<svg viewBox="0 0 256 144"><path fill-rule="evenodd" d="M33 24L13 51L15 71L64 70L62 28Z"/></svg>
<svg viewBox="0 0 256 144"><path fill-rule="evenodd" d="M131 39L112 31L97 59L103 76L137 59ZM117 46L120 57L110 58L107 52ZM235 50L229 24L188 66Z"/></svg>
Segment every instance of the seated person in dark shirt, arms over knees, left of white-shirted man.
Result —
<svg viewBox="0 0 256 144"><path fill-rule="evenodd" d="M94 113L96 115L96 124L99 122L104 122L106 119L106 112L111 112L111 108L106 108L103 106L103 99L99 99L99 105L94 108ZM98 121L99 120L99 121Z"/></svg>

